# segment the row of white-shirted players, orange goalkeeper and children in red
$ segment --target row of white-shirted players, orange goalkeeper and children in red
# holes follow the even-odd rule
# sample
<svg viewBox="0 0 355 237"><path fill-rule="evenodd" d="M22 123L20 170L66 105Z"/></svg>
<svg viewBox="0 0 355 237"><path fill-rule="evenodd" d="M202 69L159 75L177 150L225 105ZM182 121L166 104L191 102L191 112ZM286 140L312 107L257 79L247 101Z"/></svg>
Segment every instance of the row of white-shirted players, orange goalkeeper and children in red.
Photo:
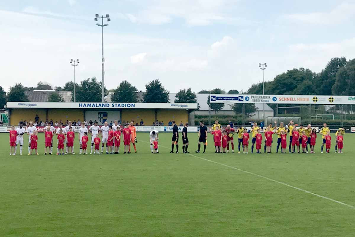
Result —
<svg viewBox="0 0 355 237"><path fill-rule="evenodd" d="M75 132L73 131L74 127L72 122L69 121L69 124L65 127L62 124L59 124L58 128L55 128L50 123L47 124L44 128L45 134L45 153L47 151L49 155L53 154L53 137L57 137L57 155L64 154L74 154L74 143L75 143ZM23 128L20 124L19 128L15 129L15 126L11 127L10 130L10 155L16 155L17 146L20 145L20 155L22 155L23 149L23 134L26 129ZM33 126L33 122L29 122L29 126L26 131L29 136L28 141L28 155L31 155L33 151L38 155L37 145L38 145L38 136L37 128ZM100 144L101 144L101 153L104 151L104 146L106 145L106 154L118 154L119 147L121 143L121 127L118 125L118 121L115 120L112 126L108 126L108 123L105 122L103 126L98 126L98 123L95 122L94 125L90 126L88 129L85 124L82 124L81 128L78 131L78 142L80 144L80 153L87 154L87 144L89 142L88 134L91 135L91 153L100 153ZM124 153L131 153L131 143L135 152L137 134L136 128L131 124L126 123L125 128L122 130L123 140L124 140ZM65 146L64 146L65 144ZM64 153L65 147L65 153Z"/></svg>

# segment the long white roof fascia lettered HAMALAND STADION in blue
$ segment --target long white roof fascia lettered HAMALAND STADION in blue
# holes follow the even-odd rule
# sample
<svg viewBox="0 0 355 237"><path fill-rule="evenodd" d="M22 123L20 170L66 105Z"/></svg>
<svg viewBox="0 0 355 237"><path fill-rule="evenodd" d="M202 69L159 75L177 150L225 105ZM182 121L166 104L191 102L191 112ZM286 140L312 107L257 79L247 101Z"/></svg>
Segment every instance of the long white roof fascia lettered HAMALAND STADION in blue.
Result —
<svg viewBox="0 0 355 237"><path fill-rule="evenodd" d="M197 103L7 102L6 107L67 109L197 109Z"/></svg>

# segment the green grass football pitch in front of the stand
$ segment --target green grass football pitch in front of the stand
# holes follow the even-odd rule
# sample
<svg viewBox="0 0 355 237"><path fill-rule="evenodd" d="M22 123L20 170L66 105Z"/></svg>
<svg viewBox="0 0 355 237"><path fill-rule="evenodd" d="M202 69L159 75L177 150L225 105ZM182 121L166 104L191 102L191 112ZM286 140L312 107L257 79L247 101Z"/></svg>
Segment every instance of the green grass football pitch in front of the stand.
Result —
<svg viewBox="0 0 355 237"><path fill-rule="evenodd" d="M166 133L151 154L138 133L138 153L85 156L42 155L43 134L39 156L9 156L8 136L0 236L355 236L352 134L343 154L321 154L320 136L316 154L275 154L275 141L272 154L215 154L212 137L196 154L196 133L190 154L169 154Z"/></svg>

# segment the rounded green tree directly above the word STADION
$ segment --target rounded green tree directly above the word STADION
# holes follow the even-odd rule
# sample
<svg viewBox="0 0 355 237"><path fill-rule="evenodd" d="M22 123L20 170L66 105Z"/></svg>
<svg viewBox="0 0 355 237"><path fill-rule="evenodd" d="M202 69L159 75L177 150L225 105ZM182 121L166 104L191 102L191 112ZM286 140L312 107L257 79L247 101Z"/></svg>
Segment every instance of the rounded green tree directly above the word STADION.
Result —
<svg viewBox="0 0 355 237"><path fill-rule="evenodd" d="M137 102L137 88L132 86L128 81L124 80L120 85L114 90L111 95L112 102Z"/></svg>

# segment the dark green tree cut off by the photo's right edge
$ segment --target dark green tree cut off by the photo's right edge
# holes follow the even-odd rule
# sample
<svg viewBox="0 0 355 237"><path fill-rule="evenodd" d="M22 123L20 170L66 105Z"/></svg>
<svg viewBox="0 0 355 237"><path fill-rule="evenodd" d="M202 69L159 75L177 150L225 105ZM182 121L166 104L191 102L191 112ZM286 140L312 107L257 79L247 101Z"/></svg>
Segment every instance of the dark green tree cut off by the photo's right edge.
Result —
<svg viewBox="0 0 355 237"><path fill-rule="evenodd" d="M355 59L340 68L332 87L333 95L355 95Z"/></svg>

